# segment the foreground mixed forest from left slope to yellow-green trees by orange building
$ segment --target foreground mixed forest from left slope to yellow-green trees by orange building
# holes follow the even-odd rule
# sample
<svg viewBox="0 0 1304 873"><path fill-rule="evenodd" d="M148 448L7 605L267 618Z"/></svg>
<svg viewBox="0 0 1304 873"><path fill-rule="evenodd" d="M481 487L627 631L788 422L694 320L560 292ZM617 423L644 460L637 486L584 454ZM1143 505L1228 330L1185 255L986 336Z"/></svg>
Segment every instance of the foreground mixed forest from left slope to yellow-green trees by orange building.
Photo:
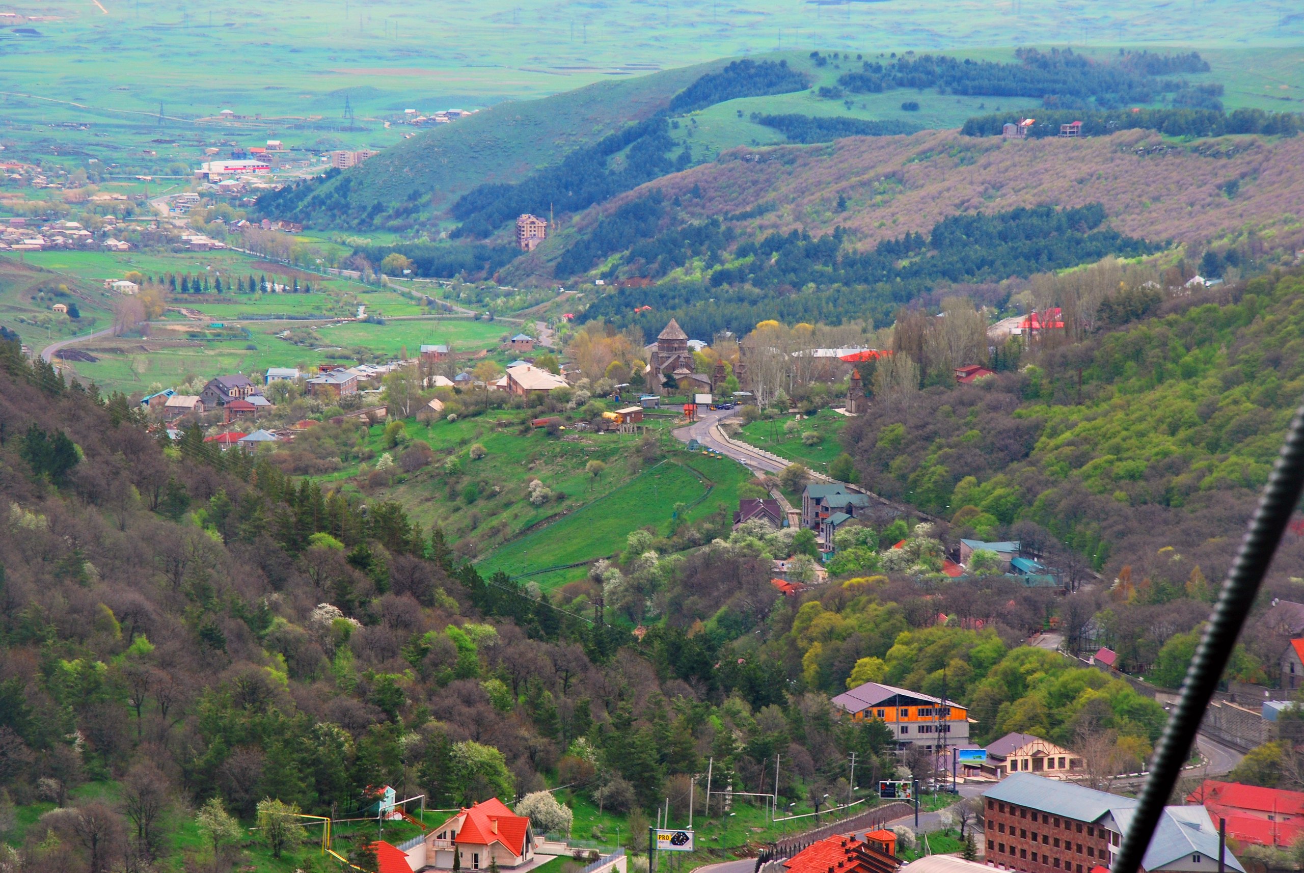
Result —
<svg viewBox="0 0 1304 873"><path fill-rule="evenodd" d="M65 384L17 343L0 366L0 851L14 869L230 869L266 851L271 835L245 825L267 804L347 817L386 783L441 807L565 783L636 817L666 796L682 809L707 756L717 786L772 790L780 754L784 801L819 799L849 790L850 752L878 773L901 764L882 726L829 704L874 676L932 689L945 671L985 737L1090 734L1136 756L1162 726L1125 683L1017 648L1054 605L999 579L941 599L904 576L790 599L750 532L662 558L636 530L544 595L459 564L394 503L364 511L198 429L147 433L125 397ZM932 549L923 528L910 542ZM605 622L579 608L599 593ZM934 627L939 603L991 602L983 632ZM202 839L179 842L183 825Z"/></svg>

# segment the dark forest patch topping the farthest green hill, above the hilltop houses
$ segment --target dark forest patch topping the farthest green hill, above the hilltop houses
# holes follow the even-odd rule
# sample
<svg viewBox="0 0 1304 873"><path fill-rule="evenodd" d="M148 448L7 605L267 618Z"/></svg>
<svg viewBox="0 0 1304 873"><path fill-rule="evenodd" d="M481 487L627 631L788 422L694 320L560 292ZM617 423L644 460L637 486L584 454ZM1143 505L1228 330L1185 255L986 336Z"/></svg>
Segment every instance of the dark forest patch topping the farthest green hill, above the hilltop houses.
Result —
<svg viewBox="0 0 1304 873"><path fill-rule="evenodd" d="M845 73L837 82L855 93L938 89L943 94L1041 98L1047 106L1115 108L1150 103L1183 89L1183 82L1154 78L1158 74L1209 70L1209 64L1194 52L1175 56L1120 52L1112 63L1098 63L1069 48L1050 52L1025 48L1017 56L1015 64L945 55L906 55L887 64L867 60L859 72Z"/></svg>

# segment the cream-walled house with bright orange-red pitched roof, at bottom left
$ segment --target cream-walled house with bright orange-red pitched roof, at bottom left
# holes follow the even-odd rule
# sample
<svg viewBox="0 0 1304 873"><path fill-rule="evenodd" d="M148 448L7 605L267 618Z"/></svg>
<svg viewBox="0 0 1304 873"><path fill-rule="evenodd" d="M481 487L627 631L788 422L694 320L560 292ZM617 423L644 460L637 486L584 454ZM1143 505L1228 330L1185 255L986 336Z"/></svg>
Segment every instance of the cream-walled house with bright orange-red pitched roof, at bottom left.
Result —
<svg viewBox="0 0 1304 873"><path fill-rule="evenodd" d="M452 853L462 853L463 870L519 866L535 856L535 831L527 816L518 816L497 797L462 809L425 838L426 864L452 869Z"/></svg>

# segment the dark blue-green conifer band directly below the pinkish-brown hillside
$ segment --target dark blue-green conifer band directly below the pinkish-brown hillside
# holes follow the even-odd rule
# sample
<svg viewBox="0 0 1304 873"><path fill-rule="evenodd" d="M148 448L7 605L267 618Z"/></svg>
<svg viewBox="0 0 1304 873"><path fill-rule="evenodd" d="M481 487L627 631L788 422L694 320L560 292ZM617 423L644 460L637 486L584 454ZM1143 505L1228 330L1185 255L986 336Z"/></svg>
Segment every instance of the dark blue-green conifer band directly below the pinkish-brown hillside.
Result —
<svg viewBox="0 0 1304 873"><path fill-rule="evenodd" d="M604 231L606 222L613 228L610 235ZM868 251L848 248L840 229L822 237L801 231L769 233L739 242L732 254L724 250L722 236L705 235L705 245L694 249L682 246L679 236L662 233L639 249L642 265L656 265L664 274L679 257L694 261L702 279L621 288L596 300L584 318L636 323L655 335L673 315L698 336L720 330L742 335L767 318L827 324L863 318L887 324L897 306L931 291L939 281L999 281L1107 254L1134 257L1158 248L1106 229L1103 223L1104 210L1098 205L956 215L939 222L927 236L909 233L884 240ZM615 236L621 227L613 215L599 223L593 238L622 244L625 238ZM610 253L599 248L585 250L591 261ZM686 263L685 259L678 263ZM634 314L639 306L652 306L652 311Z"/></svg>

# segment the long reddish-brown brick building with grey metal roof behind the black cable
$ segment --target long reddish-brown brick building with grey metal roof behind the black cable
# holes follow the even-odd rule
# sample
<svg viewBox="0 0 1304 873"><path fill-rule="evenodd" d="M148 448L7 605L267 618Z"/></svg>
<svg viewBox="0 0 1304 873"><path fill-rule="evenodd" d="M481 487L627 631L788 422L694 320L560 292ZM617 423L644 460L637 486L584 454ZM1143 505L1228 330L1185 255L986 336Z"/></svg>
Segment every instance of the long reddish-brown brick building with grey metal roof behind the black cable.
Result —
<svg viewBox="0 0 1304 873"><path fill-rule="evenodd" d="M1020 873L1091 873L1114 852L1140 803L1030 773L1013 773L983 795L987 865ZM1230 870L1244 873L1231 852ZM1204 807L1166 807L1141 868L1211 873L1218 869L1218 827Z"/></svg>

